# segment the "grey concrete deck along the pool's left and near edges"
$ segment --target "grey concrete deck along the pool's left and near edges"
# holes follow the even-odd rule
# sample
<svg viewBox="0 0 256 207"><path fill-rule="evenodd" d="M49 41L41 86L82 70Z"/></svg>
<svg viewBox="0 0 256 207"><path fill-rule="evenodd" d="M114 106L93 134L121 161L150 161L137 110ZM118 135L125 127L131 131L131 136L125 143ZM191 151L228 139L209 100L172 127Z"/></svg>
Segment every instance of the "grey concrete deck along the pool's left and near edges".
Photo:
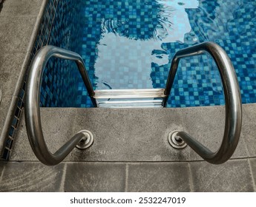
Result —
<svg viewBox="0 0 256 207"><path fill-rule="evenodd" d="M45 2L5 0L0 13L0 140L8 135L16 112ZM256 191L256 104L243 105L240 142L222 165L206 163L188 146L177 150L168 144L168 133L183 129L217 149L224 111L223 106L42 108L52 152L81 129L95 137L90 149L73 149L57 166L45 166L33 154L22 112L10 161L0 162L0 191Z"/></svg>

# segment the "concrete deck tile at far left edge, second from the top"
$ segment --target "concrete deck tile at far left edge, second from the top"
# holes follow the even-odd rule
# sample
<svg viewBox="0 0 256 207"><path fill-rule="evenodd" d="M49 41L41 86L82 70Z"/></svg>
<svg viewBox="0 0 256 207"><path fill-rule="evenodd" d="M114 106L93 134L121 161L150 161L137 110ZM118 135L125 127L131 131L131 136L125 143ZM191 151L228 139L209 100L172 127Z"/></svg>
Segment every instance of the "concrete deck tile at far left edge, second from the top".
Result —
<svg viewBox="0 0 256 207"><path fill-rule="evenodd" d="M1 16L0 51L26 52L35 22L33 16Z"/></svg>

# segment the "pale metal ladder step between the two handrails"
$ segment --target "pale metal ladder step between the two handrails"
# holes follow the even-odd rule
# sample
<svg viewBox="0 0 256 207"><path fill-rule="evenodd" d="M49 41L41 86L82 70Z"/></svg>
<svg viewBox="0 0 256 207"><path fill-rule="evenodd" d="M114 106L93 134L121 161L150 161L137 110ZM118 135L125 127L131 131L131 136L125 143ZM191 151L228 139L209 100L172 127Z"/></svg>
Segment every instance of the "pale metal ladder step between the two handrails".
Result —
<svg viewBox="0 0 256 207"><path fill-rule="evenodd" d="M93 98L101 108L163 107L165 89L95 90Z"/></svg>

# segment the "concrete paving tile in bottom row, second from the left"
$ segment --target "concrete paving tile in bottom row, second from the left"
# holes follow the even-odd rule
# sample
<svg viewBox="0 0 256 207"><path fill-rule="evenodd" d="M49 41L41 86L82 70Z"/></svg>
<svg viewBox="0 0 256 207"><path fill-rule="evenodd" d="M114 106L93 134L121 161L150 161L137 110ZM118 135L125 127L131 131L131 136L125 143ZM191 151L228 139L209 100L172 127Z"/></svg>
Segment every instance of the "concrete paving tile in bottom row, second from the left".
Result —
<svg viewBox="0 0 256 207"><path fill-rule="evenodd" d="M65 191L125 191L125 163L66 163Z"/></svg>

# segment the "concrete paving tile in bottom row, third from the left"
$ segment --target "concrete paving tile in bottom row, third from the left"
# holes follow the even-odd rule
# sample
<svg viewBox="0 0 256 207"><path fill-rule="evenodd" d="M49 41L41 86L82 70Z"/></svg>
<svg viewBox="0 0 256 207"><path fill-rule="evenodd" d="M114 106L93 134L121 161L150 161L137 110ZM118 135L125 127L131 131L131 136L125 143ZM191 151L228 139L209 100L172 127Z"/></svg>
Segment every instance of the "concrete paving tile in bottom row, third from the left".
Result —
<svg viewBox="0 0 256 207"><path fill-rule="evenodd" d="M128 191L191 191L188 163L129 163Z"/></svg>

